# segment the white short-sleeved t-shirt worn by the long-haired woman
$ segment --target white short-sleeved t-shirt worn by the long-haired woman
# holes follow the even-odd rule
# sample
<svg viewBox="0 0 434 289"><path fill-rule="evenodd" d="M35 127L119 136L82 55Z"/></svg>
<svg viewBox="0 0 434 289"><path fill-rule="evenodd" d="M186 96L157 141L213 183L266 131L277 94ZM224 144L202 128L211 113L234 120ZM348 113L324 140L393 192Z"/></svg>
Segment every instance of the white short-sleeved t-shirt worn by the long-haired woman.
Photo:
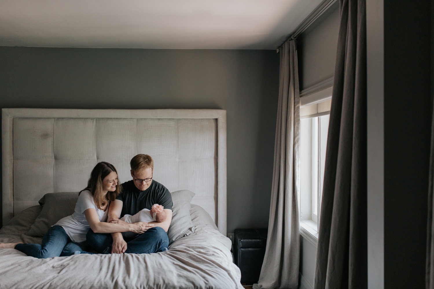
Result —
<svg viewBox="0 0 434 289"><path fill-rule="evenodd" d="M81 243L86 240L87 231L90 226L84 215L84 211L94 208L98 214L100 222L107 221L107 214L109 210L100 210L93 201L93 197L89 191L83 191L79 195L79 199L76 203L74 214L60 219L56 224L62 226L69 238L76 243ZM108 207L107 207L108 208Z"/></svg>

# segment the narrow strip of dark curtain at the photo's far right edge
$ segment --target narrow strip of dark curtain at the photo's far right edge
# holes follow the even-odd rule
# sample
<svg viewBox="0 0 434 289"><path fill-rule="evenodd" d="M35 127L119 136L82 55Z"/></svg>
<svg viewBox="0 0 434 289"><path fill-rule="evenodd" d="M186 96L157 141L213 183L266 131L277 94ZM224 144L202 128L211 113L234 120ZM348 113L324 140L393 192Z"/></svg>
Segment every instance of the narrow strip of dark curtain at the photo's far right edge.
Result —
<svg viewBox="0 0 434 289"><path fill-rule="evenodd" d="M433 224L433 193L434 193L434 108L431 119L431 155L428 183L428 221L427 221L427 265L425 288L434 289L434 224Z"/></svg>

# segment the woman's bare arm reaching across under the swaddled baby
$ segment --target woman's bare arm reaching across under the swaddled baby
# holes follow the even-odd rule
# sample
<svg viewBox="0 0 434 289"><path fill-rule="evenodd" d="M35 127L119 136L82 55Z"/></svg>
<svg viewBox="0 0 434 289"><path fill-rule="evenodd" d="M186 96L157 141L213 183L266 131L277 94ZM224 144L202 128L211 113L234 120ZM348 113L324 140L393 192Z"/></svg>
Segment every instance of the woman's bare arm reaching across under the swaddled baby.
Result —
<svg viewBox="0 0 434 289"><path fill-rule="evenodd" d="M89 208L84 211L87 222L94 233L116 233L116 232L134 232L136 234L143 234L148 227L154 226L154 224L148 224L144 222L137 223L106 223L100 222L98 214L94 208Z"/></svg>

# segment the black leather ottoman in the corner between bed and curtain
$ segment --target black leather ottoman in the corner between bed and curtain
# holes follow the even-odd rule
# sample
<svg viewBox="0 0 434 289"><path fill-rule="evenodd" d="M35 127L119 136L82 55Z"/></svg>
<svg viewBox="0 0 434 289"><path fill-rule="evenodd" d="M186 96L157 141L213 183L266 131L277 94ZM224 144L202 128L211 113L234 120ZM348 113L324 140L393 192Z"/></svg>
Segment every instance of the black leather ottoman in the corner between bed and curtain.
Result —
<svg viewBox="0 0 434 289"><path fill-rule="evenodd" d="M258 283L268 229L235 229L233 257L241 270L241 284Z"/></svg>

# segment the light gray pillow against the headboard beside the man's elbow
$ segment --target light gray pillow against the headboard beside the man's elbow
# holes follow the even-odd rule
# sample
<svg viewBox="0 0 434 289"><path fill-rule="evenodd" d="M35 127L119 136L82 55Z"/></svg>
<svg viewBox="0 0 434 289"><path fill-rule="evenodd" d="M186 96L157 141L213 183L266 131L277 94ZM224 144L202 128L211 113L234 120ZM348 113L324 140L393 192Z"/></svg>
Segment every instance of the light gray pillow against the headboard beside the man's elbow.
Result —
<svg viewBox="0 0 434 289"><path fill-rule="evenodd" d="M195 226L190 217L190 201L194 197L194 192L181 190L172 192L172 222L167 235L169 244L181 237L194 233Z"/></svg>

